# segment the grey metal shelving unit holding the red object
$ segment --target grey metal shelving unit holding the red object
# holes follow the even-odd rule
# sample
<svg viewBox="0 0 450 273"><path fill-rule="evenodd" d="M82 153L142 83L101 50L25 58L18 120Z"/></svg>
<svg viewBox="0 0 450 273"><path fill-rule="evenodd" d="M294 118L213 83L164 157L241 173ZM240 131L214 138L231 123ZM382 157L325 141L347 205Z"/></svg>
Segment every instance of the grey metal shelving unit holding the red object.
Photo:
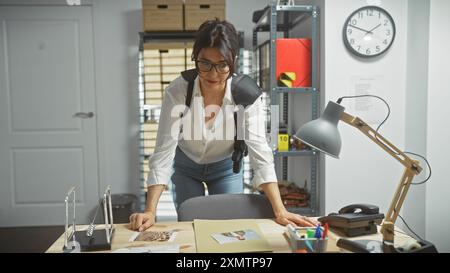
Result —
<svg viewBox="0 0 450 273"><path fill-rule="evenodd" d="M276 40L279 38L280 32L283 38L292 38L290 34L292 30L307 20L310 21L310 38L311 39L311 86L305 88L287 88L278 87L276 79ZM309 25L308 25L309 26ZM262 43L258 43L258 33L269 33L269 37ZM267 35L267 34L266 34ZM267 52L267 46L269 50ZM254 67L259 68L254 72L254 77L260 85L266 90L266 100L270 105L278 105L280 112L271 112L268 119L271 126L268 128L270 136L273 140L278 139L278 131L272 130L272 121L277 120L280 124L285 124L287 131L291 130L292 117L289 117L289 96L308 95L311 100L311 119L319 117L319 8L312 5L277 5L271 3L269 8L260 17L259 21L253 28L253 50L257 55L254 57ZM269 54L269 61L264 60L263 53ZM265 62L264 62L265 61ZM268 64L267 64L268 63ZM261 67L262 65L267 67ZM266 70L264 70L266 68ZM267 73L269 70L269 73ZM267 75L268 74L268 75ZM265 79L264 77L269 77ZM298 128L296 128L298 129ZM289 135L295 132L290 132ZM319 170L319 154L314 150L290 150L290 151L274 151L275 162L277 165L277 173L281 174L279 180L288 180L288 159L291 157L310 158L310 200L309 207L289 207L288 210L303 215L318 215L319 213L319 193L318 193L318 170ZM281 170L281 171L278 171ZM280 179L281 178L281 179Z"/></svg>

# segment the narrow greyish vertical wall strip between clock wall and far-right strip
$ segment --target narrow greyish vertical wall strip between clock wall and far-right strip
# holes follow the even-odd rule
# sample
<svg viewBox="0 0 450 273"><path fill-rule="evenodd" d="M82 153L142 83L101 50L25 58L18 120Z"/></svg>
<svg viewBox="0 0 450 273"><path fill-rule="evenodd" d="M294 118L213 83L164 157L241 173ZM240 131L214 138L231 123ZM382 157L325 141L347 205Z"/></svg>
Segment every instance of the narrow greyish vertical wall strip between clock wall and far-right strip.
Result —
<svg viewBox="0 0 450 273"><path fill-rule="evenodd" d="M423 156L427 145L429 20L429 0L408 1L405 149ZM416 183L428 176L426 163L420 162L424 170L414 180ZM401 213L419 236L425 236L425 188L425 184L410 188Z"/></svg>

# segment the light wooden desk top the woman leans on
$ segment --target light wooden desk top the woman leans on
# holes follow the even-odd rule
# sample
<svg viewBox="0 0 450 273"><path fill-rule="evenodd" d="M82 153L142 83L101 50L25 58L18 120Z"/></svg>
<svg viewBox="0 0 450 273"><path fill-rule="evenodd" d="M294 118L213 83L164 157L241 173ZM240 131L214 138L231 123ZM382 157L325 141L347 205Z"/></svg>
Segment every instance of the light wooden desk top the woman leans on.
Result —
<svg viewBox="0 0 450 273"><path fill-rule="evenodd" d="M285 236L286 227L277 224L271 219L255 219L257 225L259 226L261 232L264 234L269 245L276 253L290 253L291 248L289 241ZM149 245L162 245L167 244L166 242L129 242L130 237L133 235L134 231L128 228L128 224L115 224L115 232L112 239L112 250L117 250L126 247L137 247L137 246L149 246ZM85 230L87 226L77 226L77 230ZM102 228L99 226L99 228ZM193 253L196 252L195 247L195 235L193 222L158 222L154 226L148 229L149 231L169 231L173 229L179 229L175 241L173 243L180 246L180 252L182 253ZM337 240L341 237L334 232L329 232L329 242L328 242L328 252L340 252L341 250L336 246ZM373 234L368 236L361 236L355 239L369 239L369 240L379 240L381 241L381 234ZM396 233L395 241L402 243L405 239L410 238L407 235ZM62 234L55 243L50 246L46 251L47 253L60 253L63 252L64 246L64 234ZM109 252L109 251L108 251Z"/></svg>

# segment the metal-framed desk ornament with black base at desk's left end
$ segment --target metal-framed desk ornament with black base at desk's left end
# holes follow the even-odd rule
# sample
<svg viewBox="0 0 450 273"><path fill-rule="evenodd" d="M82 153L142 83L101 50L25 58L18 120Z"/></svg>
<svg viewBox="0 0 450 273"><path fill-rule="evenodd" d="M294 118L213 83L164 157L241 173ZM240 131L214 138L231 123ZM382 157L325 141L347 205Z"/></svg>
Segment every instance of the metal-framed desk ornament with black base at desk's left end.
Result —
<svg viewBox="0 0 450 273"><path fill-rule="evenodd" d="M69 230L69 198L73 195L73 220ZM64 234L64 252L84 252L111 250L111 240L114 234L114 222L111 203L111 186L108 185L100 203L97 206L94 217L86 230L76 230L75 220L75 187L71 188L65 198L66 203L66 225ZM103 207L105 219L102 228L95 225L98 211Z"/></svg>

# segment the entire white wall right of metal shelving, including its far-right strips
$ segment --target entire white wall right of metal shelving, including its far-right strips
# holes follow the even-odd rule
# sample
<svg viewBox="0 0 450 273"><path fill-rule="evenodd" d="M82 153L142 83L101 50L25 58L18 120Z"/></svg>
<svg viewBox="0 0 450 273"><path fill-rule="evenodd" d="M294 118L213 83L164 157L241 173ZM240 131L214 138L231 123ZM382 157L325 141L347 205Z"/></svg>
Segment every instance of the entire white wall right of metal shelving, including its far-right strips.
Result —
<svg viewBox="0 0 450 273"><path fill-rule="evenodd" d="M322 91L326 100L335 100L352 93L352 76L374 77L373 84L378 88L371 93L385 98L392 111L381 133L400 149L425 155L433 171L426 185L410 188L401 215L439 251L449 252L450 185L445 156L450 153L450 130L445 124L450 113L443 104L450 99L445 69L450 63L446 46L450 42L450 19L446 15L450 4L444 0L378 1L394 17L397 36L387 54L365 62L348 54L341 31L351 11L371 2L377 1L325 1ZM349 106L348 113L366 121L374 119L371 110L356 112L352 101L344 101L344 105ZM402 174L401 165L355 129L341 124L340 131L341 159L325 158L325 212L354 202L373 203L386 212ZM424 172L414 182L428 174L422 160L421 165ZM400 219L397 224L403 226Z"/></svg>

